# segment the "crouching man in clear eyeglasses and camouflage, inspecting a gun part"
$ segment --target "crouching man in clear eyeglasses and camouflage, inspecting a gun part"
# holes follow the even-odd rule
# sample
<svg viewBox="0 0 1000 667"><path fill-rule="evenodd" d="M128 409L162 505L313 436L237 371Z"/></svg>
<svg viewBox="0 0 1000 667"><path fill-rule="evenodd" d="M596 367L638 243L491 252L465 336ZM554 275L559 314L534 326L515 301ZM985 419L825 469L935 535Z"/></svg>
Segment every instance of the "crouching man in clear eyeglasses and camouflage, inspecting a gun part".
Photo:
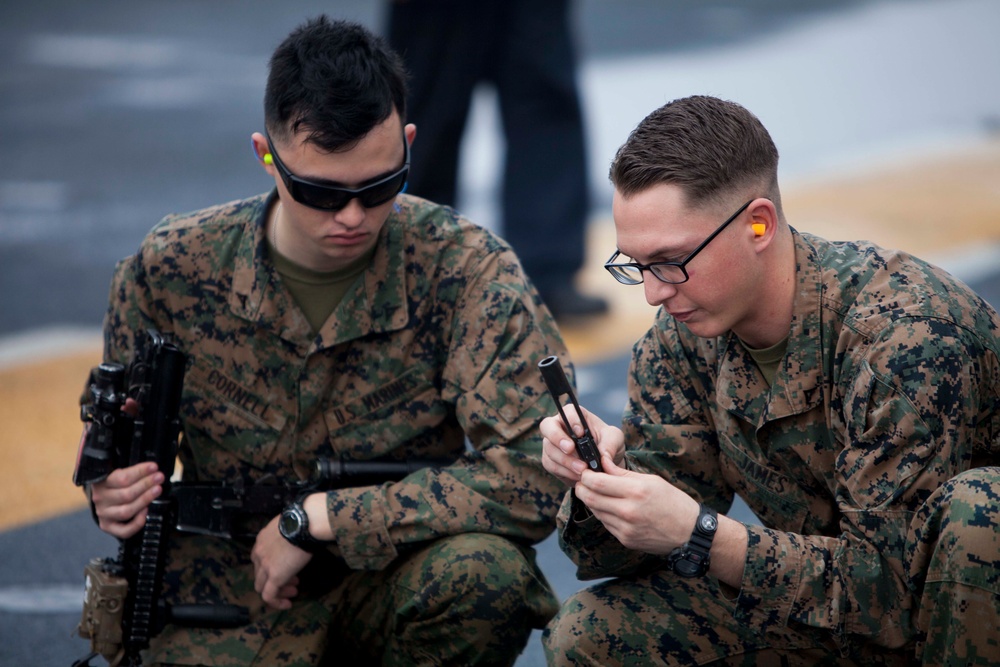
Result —
<svg viewBox="0 0 1000 667"><path fill-rule="evenodd" d="M615 157L605 268L659 311L622 430L587 417L605 472L542 422L563 549L611 577L563 604L550 664L1000 664L1000 317L906 253L790 227L777 165L710 97Z"/></svg>

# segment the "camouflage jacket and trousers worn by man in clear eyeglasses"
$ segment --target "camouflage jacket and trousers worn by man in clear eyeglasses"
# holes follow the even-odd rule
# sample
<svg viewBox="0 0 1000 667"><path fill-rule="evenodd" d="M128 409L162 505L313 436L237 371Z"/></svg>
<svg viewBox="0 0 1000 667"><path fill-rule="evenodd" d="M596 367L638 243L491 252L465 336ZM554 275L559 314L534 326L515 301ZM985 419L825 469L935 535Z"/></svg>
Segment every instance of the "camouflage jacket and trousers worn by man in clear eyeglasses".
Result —
<svg viewBox="0 0 1000 667"><path fill-rule="evenodd" d="M656 118L725 122L728 103L673 104ZM564 603L550 664L1000 664L1000 316L905 253L786 230L770 382L733 331L698 335L670 300L629 372L625 465L720 514L738 494L762 522L745 526L738 585L626 548L574 491L561 545L581 578L613 579ZM686 267L692 289L704 267Z"/></svg>

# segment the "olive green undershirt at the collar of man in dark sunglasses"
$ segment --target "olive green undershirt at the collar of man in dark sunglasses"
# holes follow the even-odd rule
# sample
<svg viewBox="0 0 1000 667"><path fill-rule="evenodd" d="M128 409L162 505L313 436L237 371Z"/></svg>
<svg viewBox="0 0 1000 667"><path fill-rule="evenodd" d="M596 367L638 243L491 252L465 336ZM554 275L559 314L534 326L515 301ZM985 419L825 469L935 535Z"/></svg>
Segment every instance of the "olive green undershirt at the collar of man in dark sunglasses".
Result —
<svg viewBox="0 0 1000 667"><path fill-rule="evenodd" d="M361 257L336 271L313 271L300 266L267 242L274 268L306 316L313 334L319 333L330 314L340 305L347 290L364 273L375 254L374 246Z"/></svg>

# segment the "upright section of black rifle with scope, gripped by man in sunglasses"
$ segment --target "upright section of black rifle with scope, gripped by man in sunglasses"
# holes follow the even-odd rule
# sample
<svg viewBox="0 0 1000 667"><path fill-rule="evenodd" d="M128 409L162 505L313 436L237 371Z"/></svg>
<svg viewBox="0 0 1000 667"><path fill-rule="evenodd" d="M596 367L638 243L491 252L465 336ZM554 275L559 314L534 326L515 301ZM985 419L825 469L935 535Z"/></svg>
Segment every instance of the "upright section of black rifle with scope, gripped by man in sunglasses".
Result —
<svg viewBox="0 0 1000 667"><path fill-rule="evenodd" d="M92 652L74 667L89 665L97 655L111 667L141 665L141 651L168 621L208 627L249 622L244 607L169 607L160 600L164 556L177 514L170 477L180 434L185 361L177 347L149 330L128 367L104 363L91 372L91 401L80 411L86 426L73 483L100 482L117 468L143 461L155 461L165 481L142 530L120 541L117 558L95 558L84 570L86 593L77 631L90 640ZM136 414L125 409L129 398L136 403Z"/></svg>

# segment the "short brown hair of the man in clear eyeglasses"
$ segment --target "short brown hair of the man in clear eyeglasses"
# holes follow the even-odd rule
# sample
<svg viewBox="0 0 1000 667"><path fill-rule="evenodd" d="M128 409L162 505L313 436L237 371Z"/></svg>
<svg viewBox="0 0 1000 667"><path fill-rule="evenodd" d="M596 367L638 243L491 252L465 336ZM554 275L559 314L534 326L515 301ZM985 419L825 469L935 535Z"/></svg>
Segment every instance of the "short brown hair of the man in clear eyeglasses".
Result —
<svg viewBox="0 0 1000 667"><path fill-rule="evenodd" d="M646 116L618 149L610 178L625 197L670 183L692 206L723 203L741 190L781 206L771 135L742 106L715 97L677 99Z"/></svg>

